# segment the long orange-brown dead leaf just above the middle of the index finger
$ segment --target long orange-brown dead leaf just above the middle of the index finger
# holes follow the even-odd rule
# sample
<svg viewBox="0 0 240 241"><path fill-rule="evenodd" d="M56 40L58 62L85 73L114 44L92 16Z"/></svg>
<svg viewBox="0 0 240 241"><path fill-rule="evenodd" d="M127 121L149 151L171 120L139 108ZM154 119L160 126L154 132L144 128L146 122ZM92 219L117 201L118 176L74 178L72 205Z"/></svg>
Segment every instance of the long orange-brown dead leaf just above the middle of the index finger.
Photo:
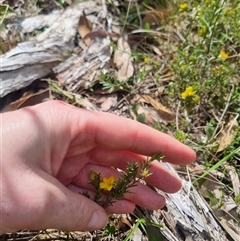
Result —
<svg viewBox="0 0 240 241"><path fill-rule="evenodd" d="M146 100L147 103L152 105L157 110L161 119L168 121L168 122L171 122L176 119L176 115L171 110L166 108L160 102L154 100L151 96L143 95L142 97Z"/></svg>

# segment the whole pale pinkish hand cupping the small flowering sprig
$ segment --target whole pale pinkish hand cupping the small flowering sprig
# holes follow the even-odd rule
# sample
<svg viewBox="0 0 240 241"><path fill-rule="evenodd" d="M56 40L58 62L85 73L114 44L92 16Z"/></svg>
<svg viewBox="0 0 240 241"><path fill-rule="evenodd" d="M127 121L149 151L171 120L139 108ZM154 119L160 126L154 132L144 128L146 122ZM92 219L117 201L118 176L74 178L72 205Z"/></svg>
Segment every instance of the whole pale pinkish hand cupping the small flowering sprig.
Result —
<svg viewBox="0 0 240 241"><path fill-rule="evenodd" d="M158 152L165 161L189 164L195 152L146 125L109 113L48 101L1 115L0 232L56 228L87 231L103 228L107 213L129 213L135 205L159 209L163 196L138 185L104 210L79 194L88 191L91 170L101 176L119 173L126 163ZM174 193L181 180L159 162L146 181ZM151 197L151 198L149 198Z"/></svg>

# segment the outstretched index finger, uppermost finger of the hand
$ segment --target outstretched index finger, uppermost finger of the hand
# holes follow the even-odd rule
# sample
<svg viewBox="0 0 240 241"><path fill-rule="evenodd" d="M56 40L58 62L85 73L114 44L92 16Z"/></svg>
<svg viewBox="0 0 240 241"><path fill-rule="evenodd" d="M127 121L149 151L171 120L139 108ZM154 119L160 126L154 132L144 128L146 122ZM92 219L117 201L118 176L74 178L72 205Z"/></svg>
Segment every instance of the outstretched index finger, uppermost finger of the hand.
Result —
<svg viewBox="0 0 240 241"><path fill-rule="evenodd" d="M78 119L73 133L81 143L107 150L128 150L145 156L162 153L168 162L191 163L195 152L173 137L144 124L110 113L74 111Z"/></svg>

